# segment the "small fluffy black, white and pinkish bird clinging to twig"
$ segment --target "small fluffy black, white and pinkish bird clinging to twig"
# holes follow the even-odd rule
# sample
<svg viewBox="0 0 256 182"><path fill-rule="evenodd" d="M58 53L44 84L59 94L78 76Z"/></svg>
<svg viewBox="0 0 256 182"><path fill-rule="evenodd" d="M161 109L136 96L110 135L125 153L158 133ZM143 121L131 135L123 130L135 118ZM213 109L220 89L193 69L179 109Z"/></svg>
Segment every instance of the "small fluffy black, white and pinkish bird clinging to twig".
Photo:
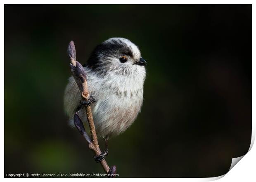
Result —
<svg viewBox="0 0 256 182"><path fill-rule="evenodd" d="M66 85L64 109L69 124L74 126L73 116L78 110L86 123L86 112L81 106L89 104L95 130L105 139L107 148L108 139L123 133L140 113L146 65L139 47L126 38L109 38L97 45L83 65L91 96L89 103L81 102L81 93L72 76ZM96 156L95 161L104 157Z"/></svg>

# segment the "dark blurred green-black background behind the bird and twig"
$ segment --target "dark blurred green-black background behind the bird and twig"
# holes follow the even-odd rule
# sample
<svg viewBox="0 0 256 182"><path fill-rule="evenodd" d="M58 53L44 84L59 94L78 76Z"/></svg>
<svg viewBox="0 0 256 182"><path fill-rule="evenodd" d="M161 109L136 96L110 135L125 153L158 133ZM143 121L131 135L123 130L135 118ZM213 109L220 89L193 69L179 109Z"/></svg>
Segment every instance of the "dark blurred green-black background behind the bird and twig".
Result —
<svg viewBox="0 0 256 182"><path fill-rule="evenodd" d="M227 173L251 142L251 5L5 5L5 174L103 173L63 95L69 41L84 64L111 37L148 63L141 113L109 141L119 177Z"/></svg>

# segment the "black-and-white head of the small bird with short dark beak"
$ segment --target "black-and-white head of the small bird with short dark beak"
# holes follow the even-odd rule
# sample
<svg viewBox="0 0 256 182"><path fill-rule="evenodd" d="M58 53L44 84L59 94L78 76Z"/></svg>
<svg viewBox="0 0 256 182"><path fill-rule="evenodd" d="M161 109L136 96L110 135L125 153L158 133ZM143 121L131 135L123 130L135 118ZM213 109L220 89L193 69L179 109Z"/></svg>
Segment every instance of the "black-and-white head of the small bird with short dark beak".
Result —
<svg viewBox="0 0 256 182"><path fill-rule="evenodd" d="M95 47L87 65L102 76L107 73L129 76L145 72L146 61L142 59L137 45L130 40L109 38Z"/></svg>

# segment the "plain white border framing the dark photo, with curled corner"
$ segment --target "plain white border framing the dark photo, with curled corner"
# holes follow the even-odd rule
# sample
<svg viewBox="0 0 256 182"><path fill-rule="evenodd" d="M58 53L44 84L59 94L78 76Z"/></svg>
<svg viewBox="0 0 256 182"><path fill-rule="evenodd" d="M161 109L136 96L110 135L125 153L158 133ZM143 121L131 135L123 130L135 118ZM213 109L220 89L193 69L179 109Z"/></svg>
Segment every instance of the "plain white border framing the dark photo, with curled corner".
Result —
<svg viewBox="0 0 256 182"><path fill-rule="evenodd" d="M107 2L107 3L106 3ZM4 0L5 4L19 4L20 1L19 0L12 0L12 1L7 1ZM167 0L157 0L157 1L153 1L153 0L108 0L108 1L103 1L103 0L93 0L93 1L83 1L83 0L62 0L60 1L56 1L56 0L44 0L44 1L32 1L32 0L24 0L22 1L22 3L24 4L253 4L252 0L215 0L215 1L205 1L205 0L183 0L183 1L167 1ZM252 5L252 32L255 32L255 7L254 5ZM0 19L0 23L2 25L1 30L1 52L2 54L2 60L4 60L4 5L2 5L1 9L0 9L0 14L1 14L1 19ZM255 36L253 34L252 36L252 50L255 50ZM254 71L256 70L255 68L255 54L254 52L252 52L252 93L255 93L256 89L255 89L255 80L256 80L256 74L254 73ZM0 116L2 118L2 135L1 135L1 142L2 142L2 150L1 150L1 171L2 171L2 177L4 176L4 61L2 61L2 66L1 66L1 71L0 71L0 82L1 82L1 97L0 97ZM237 159L241 159L241 161L239 161L239 165L235 165L226 175L220 176L220 177L213 177L213 178L160 178L163 181L195 181L195 182L201 182L201 181L212 181L212 180L218 180L221 178L220 180L223 182L226 181L232 181L232 182L241 182L242 180L244 181L255 181L256 180L256 175L255 175L255 165L256 165L256 149L255 147L252 148L252 145L254 143L254 139L255 139L255 96L252 95L252 140L251 140L251 146L250 146L250 150L248 152L248 154L246 154L244 157L240 157L240 158L235 158L232 160L232 163L235 162L235 160ZM237 161L237 162L238 162ZM4 180L16 180L17 178L4 178ZM71 178L52 178L53 180L59 180L59 181L70 181ZM47 180L52 180L52 179L47 179ZM19 180L21 181L34 181L35 179L33 178L20 178ZM37 178L37 181L45 181L46 179L44 178ZM97 180L101 180L100 178L76 178L77 181L97 181ZM123 181L129 181L130 182L130 178L116 178L116 179L107 179L105 178L104 180L123 180ZM142 178L140 180L143 180ZM151 181L151 180L155 180L153 178L147 178L147 181Z"/></svg>

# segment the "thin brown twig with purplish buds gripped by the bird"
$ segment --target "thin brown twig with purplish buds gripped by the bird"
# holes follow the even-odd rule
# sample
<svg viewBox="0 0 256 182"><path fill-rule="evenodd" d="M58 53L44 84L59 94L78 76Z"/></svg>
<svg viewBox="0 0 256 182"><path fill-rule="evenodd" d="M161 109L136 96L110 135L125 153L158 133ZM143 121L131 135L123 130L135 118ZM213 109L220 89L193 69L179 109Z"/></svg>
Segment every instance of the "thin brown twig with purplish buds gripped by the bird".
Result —
<svg viewBox="0 0 256 182"><path fill-rule="evenodd" d="M90 93L88 91L88 86L87 86L87 80L86 80L86 74L83 66L76 61L76 49L73 41L69 43L68 46L68 55L70 59L70 69L71 73L76 81L76 84L78 85L78 88L81 92L81 97L82 99L85 99L86 101L90 98ZM98 139L97 139L97 134L95 130L95 125L94 121L92 118L92 109L91 106L86 106L85 107L86 111L86 116L87 116L87 121L89 124L90 128L90 136L86 133L83 122L81 121L81 118L78 116L78 112L76 112L74 116L74 123L76 125L76 128L79 130L81 135L86 139L86 141L89 144L89 149L91 149L95 155L100 155L101 150L98 144ZM111 170L109 170L109 165L107 164L107 161L104 159L101 162L102 168L106 173L109 174L115 174L116 173L116 166L112 166Z"/></svg>

